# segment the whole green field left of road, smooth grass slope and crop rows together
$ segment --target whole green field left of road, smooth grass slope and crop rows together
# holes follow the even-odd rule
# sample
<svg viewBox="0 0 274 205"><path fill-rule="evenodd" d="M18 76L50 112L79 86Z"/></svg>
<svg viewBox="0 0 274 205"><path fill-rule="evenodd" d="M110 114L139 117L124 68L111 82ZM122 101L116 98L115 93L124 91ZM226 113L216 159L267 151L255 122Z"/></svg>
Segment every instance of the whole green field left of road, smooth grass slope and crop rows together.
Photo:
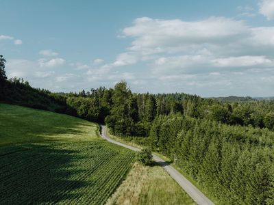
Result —
<svg viewBox="0 0 274 205"><path fill-rule="evenodd" d="M104 204L134 152L103 141L98 126L0 104L0 204Z"/></svg>

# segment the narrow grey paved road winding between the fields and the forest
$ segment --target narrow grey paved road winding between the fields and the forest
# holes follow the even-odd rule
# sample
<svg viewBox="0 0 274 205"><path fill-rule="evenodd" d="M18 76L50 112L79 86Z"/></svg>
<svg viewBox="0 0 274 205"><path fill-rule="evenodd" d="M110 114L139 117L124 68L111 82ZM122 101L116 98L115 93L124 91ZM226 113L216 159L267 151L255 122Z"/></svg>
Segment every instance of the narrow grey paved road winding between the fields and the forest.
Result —
<svg viewBox="0 0 274 205"><path fill-rule="evenodd" d="M106 127L101 126L101 137L103 139L106 139L112 143L116 143L119 146L122 146L124 148L128 148L130 150L134 151L140 151L138 148L134 148L132 146L128 146L124 143L121 143L119 141L115 141L113 139L110 139L107 135ZM199 205L208 205L213 204L208 197L203 195L199 189L197 189L193 184L191 184L190 181L188 181L182 174L180 174L175 168L171 167L169 163L166 163L166 161L162 160L159 156L156 156L153 154L153 160L157 163L159 163L164 169L166 169L166 172L169 173L169 175L192 197L192 199Z"/></svg>

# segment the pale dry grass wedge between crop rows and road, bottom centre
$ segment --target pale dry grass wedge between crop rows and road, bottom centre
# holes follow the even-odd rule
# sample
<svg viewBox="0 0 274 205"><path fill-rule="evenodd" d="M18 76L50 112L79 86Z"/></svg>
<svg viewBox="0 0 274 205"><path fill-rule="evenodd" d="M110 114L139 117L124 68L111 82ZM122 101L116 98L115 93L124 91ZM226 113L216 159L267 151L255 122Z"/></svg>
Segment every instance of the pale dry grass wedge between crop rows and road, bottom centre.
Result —
<svg viewBox="0 0 274 205"><path fill-rule="evenodd" d="M195 204L162 167L135 163L110 204Z"/></svg>

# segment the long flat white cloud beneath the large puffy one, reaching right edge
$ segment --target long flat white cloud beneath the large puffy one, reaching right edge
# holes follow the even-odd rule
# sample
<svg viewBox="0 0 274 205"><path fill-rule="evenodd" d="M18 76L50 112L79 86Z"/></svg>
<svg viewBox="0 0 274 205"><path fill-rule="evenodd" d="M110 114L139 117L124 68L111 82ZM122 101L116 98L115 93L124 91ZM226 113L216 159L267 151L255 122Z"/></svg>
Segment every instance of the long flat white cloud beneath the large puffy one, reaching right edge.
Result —
<svg viewBox="0 0 274 205"><path fill-rule="evenodd" d="M152 64L153 74L216 74L218 71L247 70L251 68L269 68L274 60L265 56L239 56L219 58L213 55L178 55L160 57ZM164 77L164 79L166 79Z"/></svg>

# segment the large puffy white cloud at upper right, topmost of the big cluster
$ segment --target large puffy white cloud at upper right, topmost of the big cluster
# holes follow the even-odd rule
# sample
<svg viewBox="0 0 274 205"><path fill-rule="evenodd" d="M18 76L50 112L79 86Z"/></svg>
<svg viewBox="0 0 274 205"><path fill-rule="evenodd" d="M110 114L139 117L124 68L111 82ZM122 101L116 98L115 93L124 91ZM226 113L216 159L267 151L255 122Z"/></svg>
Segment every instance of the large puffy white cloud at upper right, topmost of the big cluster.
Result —
<svg viewBox="0 0 274 205"><path fill-rule="evenodd" d="M136 18L132 27L123 29L123 35L135 38L129 50L148 55L189 51L194 47L203 49L201 44L226 44L247 36L248 31L243 21L231 18L210 17L186 22L142 17Z"/></svg>

